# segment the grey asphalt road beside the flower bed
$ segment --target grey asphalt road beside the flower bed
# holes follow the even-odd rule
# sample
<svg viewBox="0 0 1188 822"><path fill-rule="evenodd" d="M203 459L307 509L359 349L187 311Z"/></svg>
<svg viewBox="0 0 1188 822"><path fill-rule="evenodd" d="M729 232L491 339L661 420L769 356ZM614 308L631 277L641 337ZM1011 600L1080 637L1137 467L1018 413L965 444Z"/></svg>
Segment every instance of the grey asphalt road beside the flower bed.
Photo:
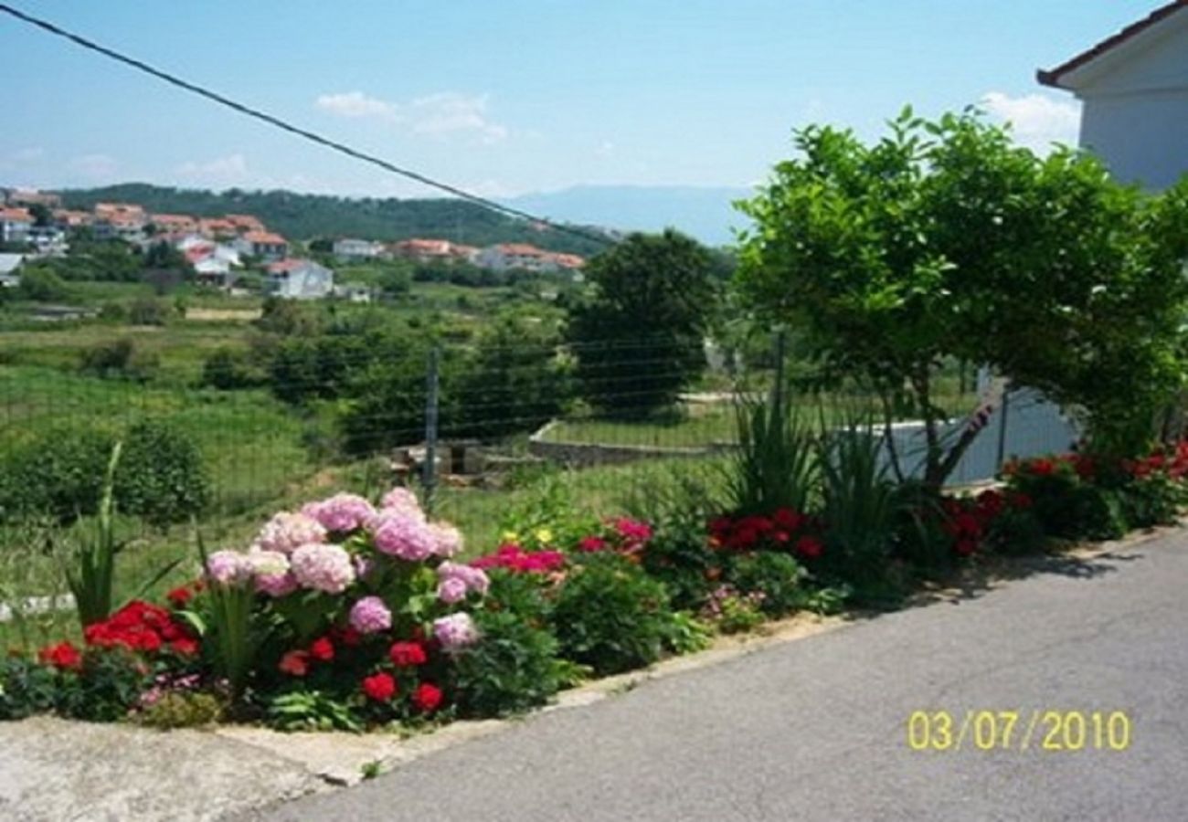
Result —
<svg viewBox="0 0 1188 822"><path fill-rule="evenodd" d="M971 722L960 751L914 751L916 710L953 713L954 736L966 712L1020 717L1012 750L978 750ZM1087 715L1086 748L1111 742L1092 712L1124 712L1129 747L1043 750L1041 716L1019 750L1049 710ZM1075 746L1061 725L1048 741ZM1188 537L538 715L263 818L1188 820Z"/></svg>

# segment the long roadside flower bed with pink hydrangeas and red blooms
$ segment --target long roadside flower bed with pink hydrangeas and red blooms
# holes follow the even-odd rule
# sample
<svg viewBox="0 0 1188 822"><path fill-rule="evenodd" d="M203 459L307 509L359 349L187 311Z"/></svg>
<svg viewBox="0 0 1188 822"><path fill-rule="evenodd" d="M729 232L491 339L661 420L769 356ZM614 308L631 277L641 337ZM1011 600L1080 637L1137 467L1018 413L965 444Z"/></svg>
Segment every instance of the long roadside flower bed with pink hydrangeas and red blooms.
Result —
<svg viewBox="0 0 1188 822"><path fill-rule="evenodd" d="M216 720L362 731L498 716L587 676L649 665L796 611L835 612L871 580L903 581L1049 540L1171 521L1188 444L1140 460L1012 463L1000 489L896 489L886 556L853 567L847 532L790 506L655 521L555 510L494 551L397 488L280 512L246 550L202 552L162 603L132 601L82 643L0 662L0 719L53 712L176 727Z"/></svg>

